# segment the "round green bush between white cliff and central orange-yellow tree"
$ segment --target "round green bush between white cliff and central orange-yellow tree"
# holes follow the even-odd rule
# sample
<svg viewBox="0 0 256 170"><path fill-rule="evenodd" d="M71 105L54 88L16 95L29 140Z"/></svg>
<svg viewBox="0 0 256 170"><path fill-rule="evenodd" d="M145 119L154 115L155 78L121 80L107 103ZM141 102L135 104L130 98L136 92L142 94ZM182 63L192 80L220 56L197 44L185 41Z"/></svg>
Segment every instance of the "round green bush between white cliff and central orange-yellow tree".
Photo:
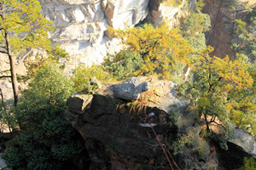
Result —
<svg viewBox="0 0 256 170"><path fill-rule="evenodd" d="M143 57L129 51L121 51L108 59L104 66L112 72L113 78L123 80L127 77L135 76L136 71L143 66Z"/></svg>

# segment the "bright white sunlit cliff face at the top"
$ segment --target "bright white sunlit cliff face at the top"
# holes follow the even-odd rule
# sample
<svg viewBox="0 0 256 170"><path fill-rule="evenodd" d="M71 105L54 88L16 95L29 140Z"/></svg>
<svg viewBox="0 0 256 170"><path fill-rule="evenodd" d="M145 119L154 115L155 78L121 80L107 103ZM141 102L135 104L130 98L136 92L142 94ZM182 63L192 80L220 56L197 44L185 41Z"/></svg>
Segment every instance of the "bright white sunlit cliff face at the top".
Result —
<svg viewBox="0 0 256 170"><path fill-rule="evenodd" d="M117 40L110 41L108 26L135 26L148 16L156 25L175 18L178 7L156 0L40 0L44 15L53 20L55 31L50 38L72 56L72 65L101 63L107 53L119 50ZM150 5L148 5L150 4Z"/></svg>

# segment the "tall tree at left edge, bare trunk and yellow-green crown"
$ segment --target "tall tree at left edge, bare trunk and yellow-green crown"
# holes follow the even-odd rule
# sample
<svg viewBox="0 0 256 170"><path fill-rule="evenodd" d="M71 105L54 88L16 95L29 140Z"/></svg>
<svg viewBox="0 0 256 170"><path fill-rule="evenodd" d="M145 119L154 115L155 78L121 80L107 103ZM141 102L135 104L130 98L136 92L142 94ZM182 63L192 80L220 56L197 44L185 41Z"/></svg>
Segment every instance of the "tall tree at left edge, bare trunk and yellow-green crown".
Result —
<svg viewBox="0 0 256 170"><path fill-rule="evenodd" d="M16 59L26 58L32 48L50 50L47 32L52 31L51 21L41 14L37 0L0 0L0 53L9 58L14 104L18 102L18 82L16 76Z"/></svg>

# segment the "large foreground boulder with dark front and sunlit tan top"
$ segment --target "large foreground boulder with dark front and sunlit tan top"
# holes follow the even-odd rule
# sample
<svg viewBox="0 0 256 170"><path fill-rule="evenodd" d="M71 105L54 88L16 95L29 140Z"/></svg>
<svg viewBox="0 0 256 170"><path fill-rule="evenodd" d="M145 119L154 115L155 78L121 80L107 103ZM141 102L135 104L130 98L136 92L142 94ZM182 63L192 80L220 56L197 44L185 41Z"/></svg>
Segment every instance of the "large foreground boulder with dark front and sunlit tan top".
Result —
<svg viewBox="0 0 256 170"><path fill-rule="evenodd" d="M119 85L102 83L93 95L73 94L67 99L67 119L84 138L90 170L169 169L157 139L172 153L179 129L171 118L171 108L186 104L177 98L175 88L173 82L134 77ZM199 141L201 128L196 129L188 132ZM184 157L175 156L177 166L191 167Z"/></svg>

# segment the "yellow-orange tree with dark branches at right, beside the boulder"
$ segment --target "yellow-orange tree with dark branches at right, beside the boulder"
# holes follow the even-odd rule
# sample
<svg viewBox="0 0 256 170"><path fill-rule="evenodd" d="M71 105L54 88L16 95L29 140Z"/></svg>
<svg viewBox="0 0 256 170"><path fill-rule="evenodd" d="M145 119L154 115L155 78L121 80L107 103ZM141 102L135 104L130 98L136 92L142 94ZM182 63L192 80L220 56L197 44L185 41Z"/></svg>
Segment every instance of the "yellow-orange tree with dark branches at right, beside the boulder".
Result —
<svg viewBox="0 0 256 170"><path fill-rule="evenodd" d="M224 59L211 58L211 51L212 48L207 48L201 55L193 81L185 82L179 93L190 100L190 105L196 108L209 133L214 133L211 128L214 125L220 129L219 134L228 136L233 129L231 122L237 127L242 122L254 129L252 132L255 134L255 87L249 72L250 64L241 58L234 61L228 56ZM240 116L240 122L235 121L237 116Z"/></svg>

